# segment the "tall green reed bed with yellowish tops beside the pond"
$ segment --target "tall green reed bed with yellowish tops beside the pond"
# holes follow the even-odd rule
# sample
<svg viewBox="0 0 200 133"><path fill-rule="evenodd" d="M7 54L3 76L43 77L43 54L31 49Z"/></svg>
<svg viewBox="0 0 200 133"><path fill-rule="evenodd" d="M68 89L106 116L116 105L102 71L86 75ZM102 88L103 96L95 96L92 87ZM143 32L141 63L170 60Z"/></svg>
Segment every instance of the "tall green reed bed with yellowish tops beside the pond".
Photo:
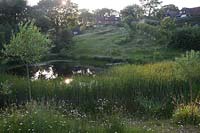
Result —
<svg viewBox="0 0 200 133"><path fill-rule="evenodd" d="M34 100L65 101L85 112L107 113L117 109L155 117L170 117L174 102L189 100L189 85L174 74L175 63L115 67L96 77L74 77L70 85L64 79L34 81L31 83ZM23 78L1 75L0 82L11 83L12 93L1 97L3 103L27 101L27 83ZM199 94L199 83L194 88Z"/></svg>

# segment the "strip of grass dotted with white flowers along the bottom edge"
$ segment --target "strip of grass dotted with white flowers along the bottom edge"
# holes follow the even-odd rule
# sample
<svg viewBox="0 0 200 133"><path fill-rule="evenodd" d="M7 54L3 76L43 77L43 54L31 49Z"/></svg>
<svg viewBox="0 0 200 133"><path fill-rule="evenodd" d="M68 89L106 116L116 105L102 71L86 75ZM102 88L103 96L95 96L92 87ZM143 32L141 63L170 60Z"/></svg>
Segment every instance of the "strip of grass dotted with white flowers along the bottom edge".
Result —
<svg viewBox="0 0 200 133"><path fill-rule="evenodd" d="M90 118L75 109L67 110L52 104L31 102L1 111L0 132L59 133L137 133L198 132L199 127L177 126L171 120L139 120L119 114Z"/></svg>

